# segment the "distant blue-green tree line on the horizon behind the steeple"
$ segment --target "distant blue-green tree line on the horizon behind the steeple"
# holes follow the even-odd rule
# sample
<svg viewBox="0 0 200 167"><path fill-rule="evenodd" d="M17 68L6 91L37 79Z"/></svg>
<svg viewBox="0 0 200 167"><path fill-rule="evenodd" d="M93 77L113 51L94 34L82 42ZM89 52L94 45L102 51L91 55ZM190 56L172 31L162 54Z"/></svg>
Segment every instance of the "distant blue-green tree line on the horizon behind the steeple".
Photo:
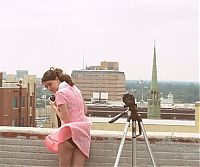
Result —
<svg viewBox="0 0 200 167"><path fill-rule="evenodd" d="M139 101L143 93L144 101L149 98L151 81L127 80L126 91L133 93ZM200 99L200 84L198 82L159 81L159 96L167 98L169 92L173 94L174 103L195 103Z"/></svg>

